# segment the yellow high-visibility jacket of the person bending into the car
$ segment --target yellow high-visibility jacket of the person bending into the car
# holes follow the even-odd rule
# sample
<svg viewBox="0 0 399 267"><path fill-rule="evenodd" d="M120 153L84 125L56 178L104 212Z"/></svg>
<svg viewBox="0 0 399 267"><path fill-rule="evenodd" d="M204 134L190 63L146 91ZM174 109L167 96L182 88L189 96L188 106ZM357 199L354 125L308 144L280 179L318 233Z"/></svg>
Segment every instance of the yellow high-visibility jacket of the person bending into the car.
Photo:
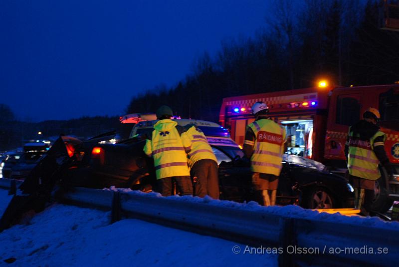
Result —
<svg viewBox="0 0 399 267"><path fill-rule="evenodd" d="M186 135L191 142L191 151L189 153L189 165L191 168L194 163L203 159L211 159L217 163L212 147L208 144L206 136L200 128L192 126L187 132L183 133L182 136L183 135Z"/></svg>

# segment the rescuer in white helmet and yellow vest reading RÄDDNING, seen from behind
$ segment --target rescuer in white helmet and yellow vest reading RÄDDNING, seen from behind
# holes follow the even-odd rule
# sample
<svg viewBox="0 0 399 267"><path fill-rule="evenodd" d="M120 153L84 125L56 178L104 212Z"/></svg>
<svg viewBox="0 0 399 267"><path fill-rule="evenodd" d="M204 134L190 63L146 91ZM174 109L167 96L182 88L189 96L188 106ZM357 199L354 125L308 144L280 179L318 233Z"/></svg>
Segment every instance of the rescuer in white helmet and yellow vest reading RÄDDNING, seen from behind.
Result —
<svg viewBox="0 0 399 267"><path fill-rule="evenodd" d="M255 121L247 126L243 150L251 160L256 200L261 205L273 206L276 204L286 132L268 118L267 112L264 102L256 102L252 106Z"/></svg>

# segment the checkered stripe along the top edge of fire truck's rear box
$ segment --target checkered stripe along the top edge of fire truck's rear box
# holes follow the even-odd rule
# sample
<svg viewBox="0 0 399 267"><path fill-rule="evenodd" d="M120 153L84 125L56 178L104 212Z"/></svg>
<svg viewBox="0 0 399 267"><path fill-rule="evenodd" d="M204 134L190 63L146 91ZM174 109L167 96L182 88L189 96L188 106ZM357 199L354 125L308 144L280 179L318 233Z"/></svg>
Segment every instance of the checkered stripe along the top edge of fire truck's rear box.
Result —
<svg viewBox="0 0 399 267"><path fill-rule="evenodd" d="M290 103L290 102L300 102L304 100L316 100L317 93L311 94L298 94L298 95L286 95L286 96L274 96L274 97L263 97L263 98L254 98L254 99L246 99L246 100L236 100L236 101L228 101L226 105L244 105L244 106L252 106L258 101L263 101L268 105L273 104L282 104L282 103Z"/></svg>

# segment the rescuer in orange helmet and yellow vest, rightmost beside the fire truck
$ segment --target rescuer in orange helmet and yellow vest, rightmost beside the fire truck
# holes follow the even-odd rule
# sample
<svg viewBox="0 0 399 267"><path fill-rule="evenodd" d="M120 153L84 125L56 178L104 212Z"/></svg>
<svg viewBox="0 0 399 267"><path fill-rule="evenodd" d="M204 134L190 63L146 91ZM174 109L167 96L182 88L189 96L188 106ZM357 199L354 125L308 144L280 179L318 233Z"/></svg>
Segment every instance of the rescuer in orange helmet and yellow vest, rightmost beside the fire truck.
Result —
<svg viewBox="0 0 399 267"><path fill-rule="evenodd" d="M355 189L355 206L365 216L372 210L375 183L381 177L378 164L381 163L389 175L393 171L384 149L387 137L380 131L379 120L380 112L368 108L363 113L363 120L349 128L345 144L349 180Z"/></svg>

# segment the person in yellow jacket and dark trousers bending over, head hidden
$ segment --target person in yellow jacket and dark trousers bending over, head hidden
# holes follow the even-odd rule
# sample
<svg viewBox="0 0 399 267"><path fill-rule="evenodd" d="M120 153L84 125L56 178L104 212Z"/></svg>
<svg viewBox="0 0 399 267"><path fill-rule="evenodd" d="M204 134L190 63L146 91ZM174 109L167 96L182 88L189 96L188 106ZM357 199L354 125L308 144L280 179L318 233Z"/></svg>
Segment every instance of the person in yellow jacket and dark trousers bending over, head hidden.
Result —
<svg viewBox="0 0 399 267"><path fill-rule="evenodd" d="M189 124L185 128L188 130L183 135L186 135L191 141L189 164L194 196L203 198L208 195L213 199L219 199L217 160L212 148L200 128L193 124Z"/></svg>

